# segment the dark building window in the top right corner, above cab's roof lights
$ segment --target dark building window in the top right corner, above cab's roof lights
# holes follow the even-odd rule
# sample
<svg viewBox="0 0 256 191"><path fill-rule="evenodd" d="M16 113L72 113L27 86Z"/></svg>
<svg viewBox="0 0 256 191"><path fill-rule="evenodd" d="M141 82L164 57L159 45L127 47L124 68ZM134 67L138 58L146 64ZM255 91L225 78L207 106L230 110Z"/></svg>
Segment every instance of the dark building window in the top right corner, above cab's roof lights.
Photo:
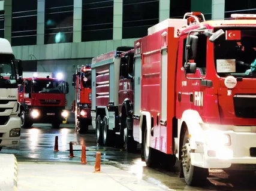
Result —
<svg viewBox="0 0 256 191"><path fill-rule="evenodd" d="M234 1L225 0L225 19L231 18L231 14L256 14L256 1L244 0Z"/></svg>

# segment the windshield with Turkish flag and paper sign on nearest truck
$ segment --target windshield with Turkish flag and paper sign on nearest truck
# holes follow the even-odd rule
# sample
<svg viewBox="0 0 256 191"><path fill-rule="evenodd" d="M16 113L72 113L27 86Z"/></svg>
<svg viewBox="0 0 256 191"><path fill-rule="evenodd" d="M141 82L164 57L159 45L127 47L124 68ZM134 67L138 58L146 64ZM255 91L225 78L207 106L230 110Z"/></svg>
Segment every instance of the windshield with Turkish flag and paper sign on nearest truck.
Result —
<svg viewBox="0 0 256 191"><path fill-rule="evenodd" d="M214 42L218 75L256 78L256 29L229 27L223 30L225 35Z"/></svg>

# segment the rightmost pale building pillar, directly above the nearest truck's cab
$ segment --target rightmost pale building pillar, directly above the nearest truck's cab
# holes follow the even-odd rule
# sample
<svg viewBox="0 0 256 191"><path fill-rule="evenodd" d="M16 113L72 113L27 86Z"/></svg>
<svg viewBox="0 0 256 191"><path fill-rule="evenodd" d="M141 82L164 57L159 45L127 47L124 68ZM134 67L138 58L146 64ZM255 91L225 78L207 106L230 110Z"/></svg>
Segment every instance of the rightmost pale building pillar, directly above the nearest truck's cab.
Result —
<svg viewBox="0 0 256 191"><path fill-rule="evenodd" d="M225 0L212 0L212 20L224 19Z"/></svg>

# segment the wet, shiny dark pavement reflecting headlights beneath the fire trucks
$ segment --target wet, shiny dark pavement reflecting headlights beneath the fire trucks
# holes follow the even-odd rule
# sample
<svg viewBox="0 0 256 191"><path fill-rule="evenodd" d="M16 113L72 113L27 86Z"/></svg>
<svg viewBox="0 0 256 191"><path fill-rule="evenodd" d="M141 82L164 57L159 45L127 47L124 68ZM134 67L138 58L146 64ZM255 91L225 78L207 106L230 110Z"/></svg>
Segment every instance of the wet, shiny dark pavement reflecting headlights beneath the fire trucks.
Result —
<svg viewBox="0 0 256 191"><path fill-rule="evenodd" d="M59 152L53 152L55 136L58 136ZM69 143L73 143L74 158L69 158ZM112 147L98 147L94 130L88 134L74 133L74 124L62 124L59 130L52 130L50 125L35 124L29 129L22 129L19 147L4 147L1 153L16 155L18 162L72 162L80 164L82 144L86 145L86 161L95 164L95 155L101 152L102 164L113 165L142 178L149 183L156 184L165 190L256 190L255 176L248 178L241 174L230 177L221 170L211 170L210 177L204 186L186 186L183 178L178 177L178 168L165 171L161 167L147 168L140 160L140 153L127 153ZM176 164L179 165L179 164Z"/></svg>

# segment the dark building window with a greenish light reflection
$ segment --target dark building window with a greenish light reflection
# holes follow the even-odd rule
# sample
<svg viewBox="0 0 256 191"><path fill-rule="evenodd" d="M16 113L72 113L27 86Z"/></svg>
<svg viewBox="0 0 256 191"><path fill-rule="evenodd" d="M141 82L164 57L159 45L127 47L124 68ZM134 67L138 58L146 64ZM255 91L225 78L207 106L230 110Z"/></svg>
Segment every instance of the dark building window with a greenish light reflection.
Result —
<svg viewBox="0 0 256 191"><path fill-rule="evenodd" d="M73 0L45 0L44 44L73 42Z"/></svg>

